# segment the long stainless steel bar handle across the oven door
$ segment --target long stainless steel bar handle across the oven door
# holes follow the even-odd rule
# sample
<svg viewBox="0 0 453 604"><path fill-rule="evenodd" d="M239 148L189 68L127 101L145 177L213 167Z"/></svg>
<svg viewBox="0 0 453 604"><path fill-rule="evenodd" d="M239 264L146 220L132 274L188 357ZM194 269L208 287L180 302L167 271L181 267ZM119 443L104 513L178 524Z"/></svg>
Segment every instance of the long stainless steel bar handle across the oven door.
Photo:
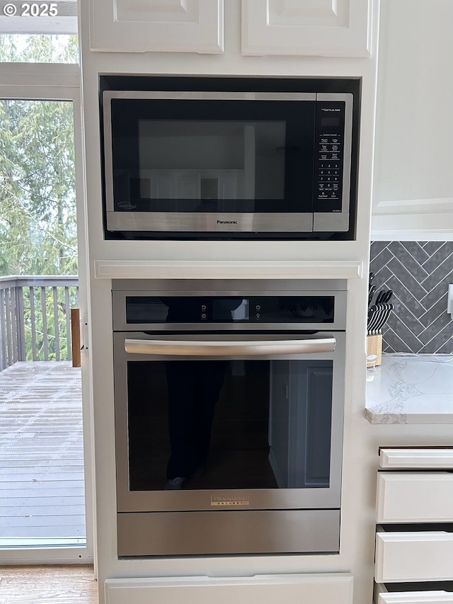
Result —
<svg viewBox="0 0 453 604"><path fill-rule="evenodd" d="M309 340L200 341L125 339L125 351L137 355L256 356L331 353L336 338Z"/></svg>

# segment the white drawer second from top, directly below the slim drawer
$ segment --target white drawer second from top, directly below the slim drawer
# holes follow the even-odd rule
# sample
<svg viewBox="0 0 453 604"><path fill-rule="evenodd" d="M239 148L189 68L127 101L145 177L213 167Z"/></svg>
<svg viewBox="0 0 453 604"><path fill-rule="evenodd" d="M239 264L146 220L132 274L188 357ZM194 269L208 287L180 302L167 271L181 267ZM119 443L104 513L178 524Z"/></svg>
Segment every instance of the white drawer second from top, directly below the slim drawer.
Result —
<svg viewBox="0 0 453 604"><path fill-rule="evenodd" d="M453 473L379 472L377 522L453 522Z"/></svg>

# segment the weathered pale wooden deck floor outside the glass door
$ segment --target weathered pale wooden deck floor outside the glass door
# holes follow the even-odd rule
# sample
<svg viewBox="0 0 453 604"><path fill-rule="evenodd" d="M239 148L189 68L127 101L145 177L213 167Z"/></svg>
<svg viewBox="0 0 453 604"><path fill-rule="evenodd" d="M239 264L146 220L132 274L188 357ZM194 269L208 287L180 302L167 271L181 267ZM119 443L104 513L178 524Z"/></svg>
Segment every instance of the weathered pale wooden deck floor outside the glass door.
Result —
<svg viewBox="0 0 453 604"><path fill-rule="evenodd" d="M0 372L0 546L85 540L80 369L16 363Z"/></svg>

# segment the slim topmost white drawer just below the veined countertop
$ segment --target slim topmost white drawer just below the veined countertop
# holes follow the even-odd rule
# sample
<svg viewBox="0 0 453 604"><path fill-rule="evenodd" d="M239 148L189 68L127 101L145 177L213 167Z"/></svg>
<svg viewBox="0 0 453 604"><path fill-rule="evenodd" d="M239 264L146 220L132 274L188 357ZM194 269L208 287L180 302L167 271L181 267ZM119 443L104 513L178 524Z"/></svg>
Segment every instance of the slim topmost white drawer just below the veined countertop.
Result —
<svg viewBox="0 0 453 604"><path fill-rule="evenodd" d="M386 469L453 468L453 447L442 449L392 449L379 450L379 465Z"/></svg>

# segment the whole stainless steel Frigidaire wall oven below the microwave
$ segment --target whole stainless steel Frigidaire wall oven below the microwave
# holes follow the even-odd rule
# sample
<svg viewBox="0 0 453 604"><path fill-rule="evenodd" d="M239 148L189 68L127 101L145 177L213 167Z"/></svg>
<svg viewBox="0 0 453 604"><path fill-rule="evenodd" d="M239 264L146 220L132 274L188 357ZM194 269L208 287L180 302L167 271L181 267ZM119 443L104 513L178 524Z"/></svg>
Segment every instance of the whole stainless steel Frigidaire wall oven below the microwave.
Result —
<svg viewBox="0 0 453 604"><path fill-rule="evenodd" d="M338 552L345 282L113 283L118 554Z"/></svg>

